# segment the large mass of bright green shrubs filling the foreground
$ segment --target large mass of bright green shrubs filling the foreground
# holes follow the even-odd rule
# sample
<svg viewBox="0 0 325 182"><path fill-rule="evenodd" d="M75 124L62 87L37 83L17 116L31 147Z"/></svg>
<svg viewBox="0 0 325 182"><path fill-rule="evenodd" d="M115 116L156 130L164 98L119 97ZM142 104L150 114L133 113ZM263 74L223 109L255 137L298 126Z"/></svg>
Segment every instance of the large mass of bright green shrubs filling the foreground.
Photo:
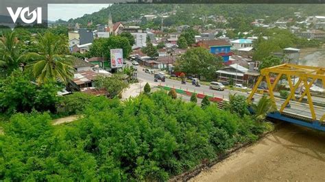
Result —
<svg viewBox="0 0 325 182"><path fill-rule="evenodd" d="M83 114L59 128L46 113L14 115L0 135L0 180L166 181L256 140L264 125L164 92L123 103L95 97Z"/></svg>

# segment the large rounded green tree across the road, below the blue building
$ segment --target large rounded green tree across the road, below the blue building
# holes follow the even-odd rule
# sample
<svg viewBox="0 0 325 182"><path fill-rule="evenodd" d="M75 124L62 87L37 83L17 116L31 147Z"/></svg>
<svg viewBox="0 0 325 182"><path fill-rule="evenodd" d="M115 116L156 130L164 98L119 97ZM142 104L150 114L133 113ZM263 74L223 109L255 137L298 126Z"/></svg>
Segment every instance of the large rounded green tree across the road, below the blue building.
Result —
<svg viewBox="0 0 325 182"><path fill-rule="evenodd" d="M208 50L197 47L188 49L176 60L176 70L186 75L203 76L205 79L213 79L215 72L222 67L222 57L216 57Z"/></svg>

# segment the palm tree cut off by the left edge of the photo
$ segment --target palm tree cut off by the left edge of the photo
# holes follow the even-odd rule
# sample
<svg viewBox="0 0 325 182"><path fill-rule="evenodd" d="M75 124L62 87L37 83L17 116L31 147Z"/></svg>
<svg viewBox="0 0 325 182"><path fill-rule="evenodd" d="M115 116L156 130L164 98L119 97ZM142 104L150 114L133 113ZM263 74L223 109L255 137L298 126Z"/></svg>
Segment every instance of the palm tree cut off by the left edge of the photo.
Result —
<svg viewBox="0 0 325 182"><path fill-rule="evenodd" d="M23 57L20 45L14 31L5 33L0 38L0 68L4 70L5 75L19 68Z"/></svg>

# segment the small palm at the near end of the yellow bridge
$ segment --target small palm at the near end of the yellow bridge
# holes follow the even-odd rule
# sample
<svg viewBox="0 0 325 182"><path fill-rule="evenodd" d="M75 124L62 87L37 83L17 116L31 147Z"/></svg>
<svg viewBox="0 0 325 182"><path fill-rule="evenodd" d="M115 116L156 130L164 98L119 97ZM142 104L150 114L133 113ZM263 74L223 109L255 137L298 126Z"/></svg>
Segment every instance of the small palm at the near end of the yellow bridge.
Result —
<svg viewBox="0 0 325 182"><path fill-rule="evenodd" d="M267 98L267 96L262 96L258 103L252 103L251 108L254 112L256 120L264 120L270 112L276 111L276 105L272 99Z"/></svg>

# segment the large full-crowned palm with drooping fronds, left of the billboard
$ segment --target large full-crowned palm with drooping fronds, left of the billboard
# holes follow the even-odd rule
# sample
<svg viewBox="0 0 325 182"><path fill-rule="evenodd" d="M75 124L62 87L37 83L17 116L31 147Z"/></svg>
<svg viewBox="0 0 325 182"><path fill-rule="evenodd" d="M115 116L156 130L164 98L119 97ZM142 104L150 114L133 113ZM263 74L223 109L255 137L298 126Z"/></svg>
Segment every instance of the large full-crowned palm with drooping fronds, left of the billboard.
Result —
<svg viewBox="0 0 325 182"><path fill-rule="evenodd" d="M47 81L62 81L67 84L73 77L74 69L71 66L73 57L64 55L62 48L67 47L67 42L62 42L58 36L46 32L44 36L38 34L38 53L27 53L26 58L32 60L27 64L38 83Z"/></svg>

